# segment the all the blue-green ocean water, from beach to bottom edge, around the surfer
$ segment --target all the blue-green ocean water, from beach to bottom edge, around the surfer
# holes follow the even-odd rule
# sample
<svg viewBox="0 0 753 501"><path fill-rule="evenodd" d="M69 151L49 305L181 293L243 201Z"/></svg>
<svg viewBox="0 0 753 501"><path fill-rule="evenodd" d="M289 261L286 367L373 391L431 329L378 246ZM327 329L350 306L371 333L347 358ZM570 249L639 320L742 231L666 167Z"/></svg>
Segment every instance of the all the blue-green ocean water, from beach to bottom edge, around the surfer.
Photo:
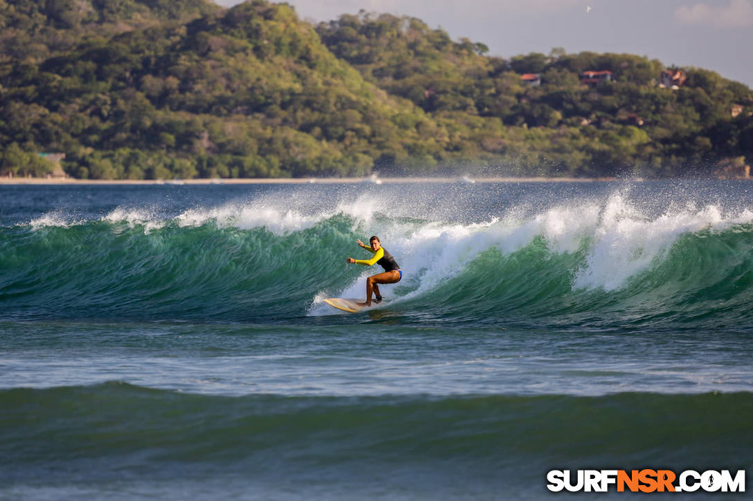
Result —
<svg viewBox="0 0 753 501"><path fill-rule="evenodd" d="M0 499L542 499L562 496L550 469L590 468L750 483L751 194L0 186ZM346 264L370 235L404 278L334 310L380 271Z"/></svg>

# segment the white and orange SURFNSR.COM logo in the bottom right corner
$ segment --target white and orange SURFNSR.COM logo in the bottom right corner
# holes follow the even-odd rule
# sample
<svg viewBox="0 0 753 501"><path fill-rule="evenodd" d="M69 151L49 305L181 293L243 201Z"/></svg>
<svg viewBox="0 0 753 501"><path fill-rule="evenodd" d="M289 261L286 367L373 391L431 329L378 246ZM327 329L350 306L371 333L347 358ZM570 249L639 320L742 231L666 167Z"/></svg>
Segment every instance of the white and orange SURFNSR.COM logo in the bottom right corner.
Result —
<svg viewBox="0 0 753 501"><path fill-rule="evenodd" d="M677 475L670 469L553 469L547 473L547 489L552 492L745 492L745 470L733 476L730 470L697 472L687 469Z"/></svg>

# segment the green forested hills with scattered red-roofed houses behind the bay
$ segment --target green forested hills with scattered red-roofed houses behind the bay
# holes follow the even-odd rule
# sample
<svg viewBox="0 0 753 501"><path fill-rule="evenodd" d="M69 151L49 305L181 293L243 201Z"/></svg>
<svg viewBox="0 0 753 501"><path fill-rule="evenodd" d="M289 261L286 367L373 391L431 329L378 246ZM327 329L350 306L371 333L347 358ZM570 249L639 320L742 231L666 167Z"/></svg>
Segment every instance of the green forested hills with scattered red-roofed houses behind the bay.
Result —
<svg viewBox="0 0 753 501"><path fill-rule="evenodd" d="M0 175L44 175L42 152L79 178L739 175L753 159L742 83L487 52L413 18L311 26L261 0L0 0Z"/></svg>

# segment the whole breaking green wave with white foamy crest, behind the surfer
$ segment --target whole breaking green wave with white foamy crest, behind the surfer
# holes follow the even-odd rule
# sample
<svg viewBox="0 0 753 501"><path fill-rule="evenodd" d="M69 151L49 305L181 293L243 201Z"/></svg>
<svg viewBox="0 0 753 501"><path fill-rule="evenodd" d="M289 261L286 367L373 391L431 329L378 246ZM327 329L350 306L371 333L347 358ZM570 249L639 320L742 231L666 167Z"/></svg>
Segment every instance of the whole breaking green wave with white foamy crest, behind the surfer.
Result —
<svg viewBox="0 0 753 501"><path fill-rule="evenodd" d="M377 309L400 322L748 328L753 216L651 217L619 195L486 222L363 206L248 205L175 217L52 214L0 228L0 316L291 320L331 315L380 272L347 265L370 234L404 278Z"/></svg>

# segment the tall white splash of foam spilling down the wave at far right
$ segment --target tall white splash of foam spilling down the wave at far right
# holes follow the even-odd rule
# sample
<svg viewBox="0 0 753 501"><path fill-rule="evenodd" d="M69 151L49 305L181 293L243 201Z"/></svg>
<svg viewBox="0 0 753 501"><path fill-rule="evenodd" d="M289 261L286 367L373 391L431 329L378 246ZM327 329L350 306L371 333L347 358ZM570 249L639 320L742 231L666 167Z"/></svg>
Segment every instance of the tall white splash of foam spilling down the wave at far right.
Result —
<svg viewBox="0 0 753 501"><path fill-rule="evenodd" d="M575 288L617 290L626 281L666 257L680 235L703 229L721 231L749 223L753 214L744 211L725 216L709 205L700 210L689 205L659 217L647 217L623 196L612 196L602 210L586 265L575 275Z"/></svg>

